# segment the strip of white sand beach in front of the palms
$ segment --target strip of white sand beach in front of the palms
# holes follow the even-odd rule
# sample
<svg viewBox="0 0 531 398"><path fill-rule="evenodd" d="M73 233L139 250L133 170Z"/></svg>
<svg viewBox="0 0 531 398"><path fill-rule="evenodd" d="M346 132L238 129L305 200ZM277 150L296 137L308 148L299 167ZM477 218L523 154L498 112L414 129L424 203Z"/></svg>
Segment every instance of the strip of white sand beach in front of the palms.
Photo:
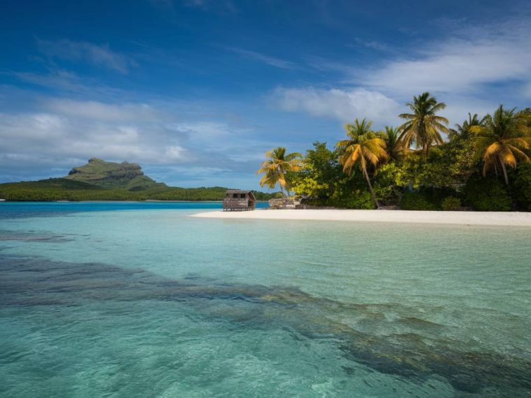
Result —
<svg viewBox="0 0 531 398"><path fill-rule="evenodd" d="M432 223L483 226L530 226L531 212L412 212L407 210L270 210L254 212L201 212L208 219L372 221L384 223Z"/></svg>

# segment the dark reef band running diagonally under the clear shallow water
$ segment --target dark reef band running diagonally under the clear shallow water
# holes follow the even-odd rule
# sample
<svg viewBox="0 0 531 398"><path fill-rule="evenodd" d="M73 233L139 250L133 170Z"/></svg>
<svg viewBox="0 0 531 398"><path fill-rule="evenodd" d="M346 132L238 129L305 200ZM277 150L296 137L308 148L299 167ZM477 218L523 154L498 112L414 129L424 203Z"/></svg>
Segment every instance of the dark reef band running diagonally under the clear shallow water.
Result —
<svg viewBox="0 0 531 398"><path fill-rule="evenodd" d="M307 338L333 339L346 358L381 373L418 381L439 376L456 390L481 396L493 390L496 397L531 395L530 360L462 351L455 341L429 339L421 332L437 331L442 325L412 316L386 320L382 314L390 304L345 304L296 288L213 284L197 274L172 280L144 270L42 258L0 257L0 276L0 308L77 306L93 300L178 301L205 317L229 320L236 329L284 328ZM384 336L361 332L330 319L330 314L339 313L372 318L382 326L407 325L412 332ZM344 367L344 371L353 374L354 369Z"/></svg>

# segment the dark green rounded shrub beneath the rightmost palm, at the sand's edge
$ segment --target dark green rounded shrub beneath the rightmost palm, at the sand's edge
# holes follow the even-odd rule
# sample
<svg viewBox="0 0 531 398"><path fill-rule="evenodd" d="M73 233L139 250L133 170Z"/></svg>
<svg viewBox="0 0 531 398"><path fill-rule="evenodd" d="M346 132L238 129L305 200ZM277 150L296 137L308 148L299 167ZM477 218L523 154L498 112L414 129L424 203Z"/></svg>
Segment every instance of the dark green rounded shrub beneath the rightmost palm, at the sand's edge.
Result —
<svg viewBox="0 0 531 398"><path fill-rule="evenodd" d="M479 212L509 212L512 200L507 186L497 179L471 177L464 189L465 201Z"/></svg>

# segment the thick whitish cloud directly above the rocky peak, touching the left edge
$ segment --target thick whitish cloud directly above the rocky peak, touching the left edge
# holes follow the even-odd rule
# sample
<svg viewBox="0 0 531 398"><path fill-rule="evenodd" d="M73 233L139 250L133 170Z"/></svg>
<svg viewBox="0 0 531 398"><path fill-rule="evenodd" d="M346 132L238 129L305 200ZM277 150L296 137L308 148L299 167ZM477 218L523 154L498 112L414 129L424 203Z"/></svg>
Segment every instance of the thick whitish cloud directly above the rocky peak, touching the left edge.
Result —
<svg viewBox="0 0 531 398"><path fill-rule="evenodd" d="M1 115L0 153L0 167L9 167L3 161L17 156L30 156L34 166L47 163L48 159L81 161L93 156L149 163L188 160L180 138L157 124L126 124L42 112Z"/></svg>

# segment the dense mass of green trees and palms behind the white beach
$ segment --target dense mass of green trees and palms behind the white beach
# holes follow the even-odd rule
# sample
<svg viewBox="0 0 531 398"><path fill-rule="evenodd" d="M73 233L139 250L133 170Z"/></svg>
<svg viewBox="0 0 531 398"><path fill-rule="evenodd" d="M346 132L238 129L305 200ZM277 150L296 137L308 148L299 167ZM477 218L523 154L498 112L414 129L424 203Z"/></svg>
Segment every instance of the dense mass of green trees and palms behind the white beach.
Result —
<svg viewBox="0 0 531 398"><path fill-rule="evenodd" d="M447 128L437 115L446 105L428 93L407 105L412 113L400 115L399 128L373 131L371 121L356 119L333 149L314 142L286 184L321 207L531 211L530 108L500 105Z"/></svg>

